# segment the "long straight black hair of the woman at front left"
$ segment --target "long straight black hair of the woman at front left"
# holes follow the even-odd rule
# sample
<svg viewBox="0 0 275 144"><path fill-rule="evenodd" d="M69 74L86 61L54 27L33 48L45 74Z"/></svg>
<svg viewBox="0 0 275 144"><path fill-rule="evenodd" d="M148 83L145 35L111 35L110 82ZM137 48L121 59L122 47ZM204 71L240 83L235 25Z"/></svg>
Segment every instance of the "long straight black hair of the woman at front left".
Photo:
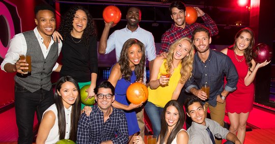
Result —
<svg viewBox="0 0 275 144"><path fill-rule="evenodd" d="M81 113L81 101L80 101L80 90L78 83L71 76L63 76L57 81L56 91L54 93L54 101L58 110L58 127L59 127L59 139L65 138L66 133L66 119L65 119L65 109L63 105L62 97L58 94L62 87L62 84L65 82L72 82L77 88L78 96L75 100L75 103L72 105L71 113L71 129L69 139L76 141L77 137L77 124Z"/></svg>

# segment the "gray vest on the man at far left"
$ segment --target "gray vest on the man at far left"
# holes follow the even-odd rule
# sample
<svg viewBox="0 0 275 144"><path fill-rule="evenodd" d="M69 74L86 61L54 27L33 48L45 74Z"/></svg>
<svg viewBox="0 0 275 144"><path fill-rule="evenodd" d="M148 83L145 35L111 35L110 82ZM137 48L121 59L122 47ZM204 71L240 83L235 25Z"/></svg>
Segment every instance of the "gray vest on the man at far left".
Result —
<svg viewBox="0 0 275 144"><path fill-rule="evenodd" d="M34 31L24 32L23 35L27 45L26 55L31 55L32 59L32 73L24 77L17 74L14 80L32 93L41 88L49 91L51 89L50 74L58 59L58 43L54 42L50 46L49 53L44 59Z"/></svg>

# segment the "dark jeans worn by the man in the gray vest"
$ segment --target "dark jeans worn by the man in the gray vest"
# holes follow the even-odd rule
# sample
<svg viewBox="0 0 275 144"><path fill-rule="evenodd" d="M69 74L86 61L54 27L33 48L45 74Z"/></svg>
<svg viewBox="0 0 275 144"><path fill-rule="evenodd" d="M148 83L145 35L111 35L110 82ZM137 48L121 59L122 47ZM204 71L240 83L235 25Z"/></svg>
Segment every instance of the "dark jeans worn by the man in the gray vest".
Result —
<svg viewBox="0 0 275 144"><path fill-rule="evenodd" d="M53 91L40 89L34 93L15 82L15 114L18 127L18 143L33 143L35 111L40 123L43 112L53 104Z"/></svg>

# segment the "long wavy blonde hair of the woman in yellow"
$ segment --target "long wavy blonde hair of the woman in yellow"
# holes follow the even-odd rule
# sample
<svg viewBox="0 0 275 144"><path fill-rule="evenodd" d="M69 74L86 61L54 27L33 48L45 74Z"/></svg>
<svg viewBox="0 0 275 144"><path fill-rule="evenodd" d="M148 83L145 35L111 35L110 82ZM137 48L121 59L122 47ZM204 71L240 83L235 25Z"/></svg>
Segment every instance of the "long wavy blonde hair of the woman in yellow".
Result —
<svg viewBox="0 0 275 144"><path fill-rule="evenodd" d="M188 41L191 44L191 49L188 52L189 55L186 55L185 57L183 57L183 59L180 62L181 63L181 69L180 69L181 78L180 78L180 83L184 83L192 75L191 71L193 69L193 61L194 61L194 53L195 53L194 49L195 48L194 48L194 44L191 41L191 39L189 39L187 37L183 37L183 38L178 39L177 41L175 41L171 45L171 47L170 47L170 49L168 51L168 54L167 54L167 61L164 63L166 71L170 72L170 70L172 69L175 48L177 47L177 45L179 43L181 43L184 40Z"/></svg>

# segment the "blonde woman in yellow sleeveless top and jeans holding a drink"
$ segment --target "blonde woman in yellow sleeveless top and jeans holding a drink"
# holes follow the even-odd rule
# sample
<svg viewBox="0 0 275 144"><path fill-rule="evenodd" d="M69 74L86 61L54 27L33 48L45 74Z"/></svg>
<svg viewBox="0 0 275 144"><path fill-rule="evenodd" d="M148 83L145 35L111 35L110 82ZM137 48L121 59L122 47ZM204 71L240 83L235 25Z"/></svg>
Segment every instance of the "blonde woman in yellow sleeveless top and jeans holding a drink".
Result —
<svg viewBox="0 0 275 144"><path fill-rule="evenodd" d="M194 59L194 45L187 38L181 38L170 47L167 58L154 60L146 113L151 121L154 135L160 132L160 114L170 100L177 100L186 80L191 76ZM171 76L170 76L171 75Z"/></svg>

